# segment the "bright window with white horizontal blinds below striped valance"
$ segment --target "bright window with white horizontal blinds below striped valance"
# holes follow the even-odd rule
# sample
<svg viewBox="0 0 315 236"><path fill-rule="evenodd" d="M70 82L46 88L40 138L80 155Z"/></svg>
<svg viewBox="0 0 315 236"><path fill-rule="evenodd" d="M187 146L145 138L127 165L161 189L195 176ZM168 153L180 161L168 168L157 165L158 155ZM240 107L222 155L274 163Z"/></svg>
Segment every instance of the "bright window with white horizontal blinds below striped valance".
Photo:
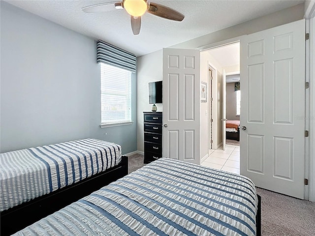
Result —
<svg viewBox="0 0 315 236"><path fill-rule="evenodd" d="M131 121L131 71L100 63L101 127Z"/></svg>

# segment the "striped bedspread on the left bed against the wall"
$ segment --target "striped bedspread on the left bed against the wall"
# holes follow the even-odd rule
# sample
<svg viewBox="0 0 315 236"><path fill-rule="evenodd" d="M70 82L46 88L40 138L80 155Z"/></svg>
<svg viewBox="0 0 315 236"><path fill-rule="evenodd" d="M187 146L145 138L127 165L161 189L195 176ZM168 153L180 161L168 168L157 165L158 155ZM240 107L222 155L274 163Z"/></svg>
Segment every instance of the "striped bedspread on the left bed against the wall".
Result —
<svg viewBox="0 0 315 236"><path fill-rule="evenodd" d="M96 139L1 153L0 210L91 177L121 160L121 146Z"/></svg>

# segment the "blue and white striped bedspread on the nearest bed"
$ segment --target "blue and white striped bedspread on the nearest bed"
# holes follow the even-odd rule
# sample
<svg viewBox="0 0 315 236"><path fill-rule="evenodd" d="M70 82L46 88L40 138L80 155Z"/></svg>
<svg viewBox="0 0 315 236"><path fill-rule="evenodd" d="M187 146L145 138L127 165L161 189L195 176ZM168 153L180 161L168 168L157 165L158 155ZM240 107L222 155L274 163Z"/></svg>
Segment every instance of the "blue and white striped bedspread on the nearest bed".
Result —
<svg viewBox="0 0 315 236"><path fill-rule="evenodd" d="M253 236L247 177L161 158L15 235Z"/></svg>

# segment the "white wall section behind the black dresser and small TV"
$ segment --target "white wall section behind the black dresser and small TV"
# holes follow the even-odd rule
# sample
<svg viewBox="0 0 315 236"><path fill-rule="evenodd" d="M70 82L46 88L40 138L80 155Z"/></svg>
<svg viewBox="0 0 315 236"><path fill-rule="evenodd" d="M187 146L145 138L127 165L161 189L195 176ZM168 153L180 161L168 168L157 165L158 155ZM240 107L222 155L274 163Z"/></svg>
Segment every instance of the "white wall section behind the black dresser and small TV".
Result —
<svg viewBox="0 0 315 236"><path fill-rule="evenodd" d="M143 112L150 112L149 82L163 80L163 50L151 53L137 59L137 146L138 151L144 151ZM156 103L158 112L163 111L163 104Z"/></svg>

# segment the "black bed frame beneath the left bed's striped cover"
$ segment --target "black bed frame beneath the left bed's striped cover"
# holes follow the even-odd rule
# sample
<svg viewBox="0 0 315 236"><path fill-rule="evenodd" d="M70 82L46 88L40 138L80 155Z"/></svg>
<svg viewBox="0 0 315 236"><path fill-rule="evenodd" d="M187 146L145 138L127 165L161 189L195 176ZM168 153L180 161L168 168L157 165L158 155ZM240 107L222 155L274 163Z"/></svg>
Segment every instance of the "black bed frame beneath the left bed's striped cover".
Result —
<svg viewBox="0 0 315 236"><path fill-rule="evenodd" d="M101 187L128 174L128 157L119 165L50 194L33 199L0 214L1 236L12 235L41 218L89 195Z"/></svg>

